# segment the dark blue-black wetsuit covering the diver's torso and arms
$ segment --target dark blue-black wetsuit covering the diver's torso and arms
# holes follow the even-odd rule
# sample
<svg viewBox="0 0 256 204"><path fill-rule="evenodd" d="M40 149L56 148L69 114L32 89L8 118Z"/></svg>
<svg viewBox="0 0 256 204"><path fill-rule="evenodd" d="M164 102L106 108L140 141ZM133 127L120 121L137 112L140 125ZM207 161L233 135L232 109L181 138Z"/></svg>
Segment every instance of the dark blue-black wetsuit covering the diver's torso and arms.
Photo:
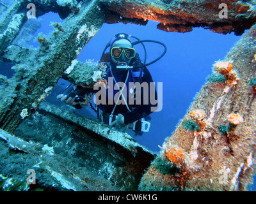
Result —
<svg viewBox="0 0 256 204"><path fill-rule="evenodd" d="M138 59L137 63L140 63L141 64L141 61L140 61L140 57L138 56L138 54L136 54L136 59ZM136 60L135 59L135 60ZM136 63L136 62L134 62ZM136 64L135 64L136 66ZM140 68L141 69L141 68ZM140 73L140 69L137 69L137 71L132 71L130 70L130 73L129 73L129 77L127 79L127 83L126 83L126 87L127 87L127 94L126 94L126 99L127 99L127 103L129 103L129 97L131 97L131 94L129 95L129 82L133 82L135 83L137 80L138 80L138 73ZM127 70L124 70L120 73L116 73L113 69L112 69L112 73L116 79L116 82L125 82L125 79L127 77ZM134 73L136 73L136 77L134 77ZM110 68L107 69L106 71L106 75L104 77L104 79L106 79L107 81L109 80L109 77L113 77L111 75L111 71L110 71ZM116 105L116 108L115 108L115 112L113 113L114 115L118 115L118 113L121 113L122 115L124 115L124 122L125 124L129 124L131 122L134 122L136 120L139 120L139 119L142 119L143 117L146 117L147 115L149 115L150 113L152 113L152 110L151 110L151 107L156 107L157 106L157 92L156 92L156 88L154 87L154 90L151 90L150 91L150 83L153 83L153 80L152 80L152 76L150 75L150 72L148 71L148 69L145 67L143 68L143 74L141 76L141 79L140 79L140 83L143 84L143 82L146 82L147 83L147 86L148 86L148 93L145 93L146 90L144 90L142 87L141 87L141 92L140 92L140 105L136 105L136 101L134 101L134 105L131 105L131 104L128 104L129 106L129 110L131 110L131 112L127 109L127 106L124 105L124 104L120 104L120 105ZM108 85L109 85L109 82L108 82ZM115 86L115 82L113 82L113 87ZM117 87L115 87L116 90L113 90L113 96L109 96L109 89L113 89L113 87L108 87L108 89L106 89L106 103L105 105L98 105L98 107L100 108L100 110L102 110L102 113L104 115L104 121L106 123L108 123L108 118L109 118L109 115L111 115L112 111L113 111L113 108L115 107L115 102L113 102L113 96L116 96L118 97L119 94L118 92L120 93L120 90L118 90ZM84 89L83 91L81 91L79 93L79 96L81 96L81 98L83 98L83 95L88 93L88 92L94 92L96 93L97 91L99 90L93 90L93 89ZM147 97L147 100L145 101L145 104L143 104L143 96L145 94L145 97ZM116 95L117 94L117 95ZM151 96L150 96L151 94ZM152 96L153 94L153 96ZM134 96L134 95L133 95ZM135 97L135 96L134 96ZM111 103L109 104L109 98L110 98L110 101ZM151 102L153 100L150 100L150 98L154 98L154 104L152 104ZM75 106L75 108L82 108L81 106L77 105Z"/></svg>

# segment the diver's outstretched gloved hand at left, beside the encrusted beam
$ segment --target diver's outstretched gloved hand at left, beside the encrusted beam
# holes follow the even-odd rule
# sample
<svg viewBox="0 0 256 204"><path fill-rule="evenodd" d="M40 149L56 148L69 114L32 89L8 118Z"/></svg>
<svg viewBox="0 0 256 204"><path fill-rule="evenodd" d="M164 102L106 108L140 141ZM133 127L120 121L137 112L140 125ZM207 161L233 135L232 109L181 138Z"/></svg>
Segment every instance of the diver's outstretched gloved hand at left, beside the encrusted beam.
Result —
<svg viewBox="0 0 256 204"><path fill-rule="evenodd" d="M77 109L83 108L86 105L84 94L92 92L91 89L83 87L81 85L71 84L67 89L57 96L57 99L66 103L67 105L72 105Z"/></svg>

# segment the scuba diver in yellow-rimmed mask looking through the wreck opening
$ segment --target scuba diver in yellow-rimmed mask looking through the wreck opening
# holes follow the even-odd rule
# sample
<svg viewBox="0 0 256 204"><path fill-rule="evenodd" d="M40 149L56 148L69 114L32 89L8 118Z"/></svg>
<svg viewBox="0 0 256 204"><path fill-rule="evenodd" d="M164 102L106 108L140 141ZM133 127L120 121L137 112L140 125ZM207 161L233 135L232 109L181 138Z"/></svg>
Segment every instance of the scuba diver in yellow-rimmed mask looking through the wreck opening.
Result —
<svg viewBox="0 0 256 204"><path fill-rule="evenodd" d="M132 43L131 38L135 38L137 41ZM106 89L106 101L108 101L106 104L98 105L95 103L97 108L101 110L102 122L118 130L132 129L137 135L149 131L150 122L144 118L153 112L152 108L157 106L156 88L153 86L154 90L152 90L150 86L154 82L146 66L156 62L166 53L166 46L160 43L164 46L163 54L148 64L143 63L139 54L133 48L138 43L143 45L143 42L160 43L153 40L141 41L125 33L118 33L109 41L102 53L100 62L106 64L107 69L104 79L107 80L108 84L113 83L113 87L112 90L110 90L110 86ZM105 53L108 47L110 47L109 52ZM146 61L145 45L143 45L143 48L145 51L144 61ZM145 89L143 86L145 84L151 89ZM124 91L124 86L129 87L129 89ZM57 98L79 109L84 106L84 95L88 93L96 94L97 91L94 88L71 85ZM151 100L152 97L154 100ZM140 98L140 103L136 101L138 98ZM115 101L115 103L109 101ZM154 101L154 104L151 103L152 101Z"/></svg>

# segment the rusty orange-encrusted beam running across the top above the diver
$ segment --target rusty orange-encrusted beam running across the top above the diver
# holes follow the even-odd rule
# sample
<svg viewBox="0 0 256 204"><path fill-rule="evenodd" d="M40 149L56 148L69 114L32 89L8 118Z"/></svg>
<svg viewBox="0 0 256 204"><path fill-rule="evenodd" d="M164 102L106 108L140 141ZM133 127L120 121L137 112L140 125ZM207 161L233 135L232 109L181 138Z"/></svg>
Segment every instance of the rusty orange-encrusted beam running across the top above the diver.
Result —
<svg viewBox="0 0 256 204"><path fill-rule="evenodd" d="M254 1L102 0L101 3L109 13L106 22L147 24L147 20L155 20L159 22L157 28L167 32L186 33L192 31L193 27L204 27L216 33L234 32L240 35L256 21ZM227 10L224 11L225 8Z"/></svg>

